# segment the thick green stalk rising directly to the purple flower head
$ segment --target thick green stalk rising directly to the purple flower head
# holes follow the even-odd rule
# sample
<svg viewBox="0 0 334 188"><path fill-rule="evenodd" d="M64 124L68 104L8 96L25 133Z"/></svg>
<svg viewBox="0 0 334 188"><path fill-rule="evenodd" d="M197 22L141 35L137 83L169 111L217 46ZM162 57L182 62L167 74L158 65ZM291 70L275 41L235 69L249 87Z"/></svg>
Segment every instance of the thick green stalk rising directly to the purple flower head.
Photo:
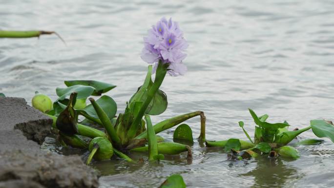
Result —
<svg viewBox="0 0 334 188"><path fill-rule="evenodd" d="M144 103L143 103L142 107L140 108L140 110L139 110L137 116L135 117L134 121L130 125L129 130L127 131L127 138L129 140L131 140L135 137L136 132L137 132L137 130L140 126L140 123L142 121L142 118L143 118L143 116L146 112L147 106L148 106L148 104L151 103L151 101L153 99L153 96L158 91L160 85L164 81L166 73L167 73L166 64L162 63L162 61L159 61L157 71L156 71L156 75L155 75L155 79L154 79L154 83L151 86L151 88L148 90L146 100L144 101Z"/></svg>

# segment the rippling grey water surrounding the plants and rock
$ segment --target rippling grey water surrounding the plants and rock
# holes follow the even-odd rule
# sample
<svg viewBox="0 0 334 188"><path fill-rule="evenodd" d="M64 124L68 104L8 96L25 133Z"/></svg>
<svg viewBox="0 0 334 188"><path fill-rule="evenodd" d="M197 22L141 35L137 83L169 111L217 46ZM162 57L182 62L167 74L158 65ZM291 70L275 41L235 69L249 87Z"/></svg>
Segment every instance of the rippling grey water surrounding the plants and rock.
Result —
<svg viewBox="0 0 334 188"><path fill-rule="evenodd" d="M35 90L56 99L63 80L100 80L117 87L107 93L119 112L146 74L142 38L163 16L180 22L190 43L188 73L167 77L167 111L153 122L203 110L207 138L245 138L237 125L247 110L287 120L291 129L311 119L333 120L334 1L80 1L0 0L1 29L56 30L55 36L0 40L0 92L30 101ZM188 121L199 135L199 118ZM171 132L161 134L171 139ZM300 139L314 138L311 131ZM156 188L181 173L189 188L333 186L334 145L298 146L301 158L229 161L219 149L195 143L193 161L185 154L159 165L120 161L94 163L101 188ZM50 143L52 144L50 146ZM46 148L68 153L48 138ZM82 154L82 151L75 151ZM86 154L86 153L84 153ZM139 156L140 157L140 156ZM138 158L139 158L138 157Z"/></svg>

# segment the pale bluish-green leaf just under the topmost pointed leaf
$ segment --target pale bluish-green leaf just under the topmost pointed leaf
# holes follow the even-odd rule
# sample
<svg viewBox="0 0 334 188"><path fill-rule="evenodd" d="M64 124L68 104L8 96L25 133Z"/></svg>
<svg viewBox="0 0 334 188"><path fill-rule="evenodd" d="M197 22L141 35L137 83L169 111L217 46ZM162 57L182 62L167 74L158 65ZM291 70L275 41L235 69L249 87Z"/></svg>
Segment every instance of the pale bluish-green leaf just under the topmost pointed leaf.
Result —
<svg viewBox="0 0 334 188"><path fill-rule="evenodd" d="M93 92L95 88L91 86L85 86L85 85L73 85L66 88L59 88L57 87L56 93L59 96L59 98L55 101L63 101L66 97L70 96L71 93L76 92L78 93L77 99L86 99L89 97Z"/></svg>

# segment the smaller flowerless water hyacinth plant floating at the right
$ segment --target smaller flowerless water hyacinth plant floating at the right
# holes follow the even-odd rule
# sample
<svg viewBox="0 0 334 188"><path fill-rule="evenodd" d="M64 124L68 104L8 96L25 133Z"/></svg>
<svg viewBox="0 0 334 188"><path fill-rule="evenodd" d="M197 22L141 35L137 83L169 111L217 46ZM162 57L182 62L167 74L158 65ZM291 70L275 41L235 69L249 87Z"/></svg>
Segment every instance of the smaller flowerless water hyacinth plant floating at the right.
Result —
<svg viewBox="0 0 334 188"><path fill-rule="evenodd" d="M271 124L266 122L268 115L258 117L252 109L249 109L250 115L255 123L254 140L252 140L244 128L244 122L239 122L239 126L243 129L249 141L243 141L235 138L224 141L206 141L208 147L218 146L224 147L226 152L230 152L230 157L235 159L245 159L257 157L260 154L267 154L270 157L278 155L290 157L293 159L299 158L298 151L288 145L299 134L312 129L313 133L319 137L328 137L334 142L334 126L332 122L325 120L312 120L311 125L302 129L288 130L290 126L286 121L284 123ZM298 145L314 145L322 143L322 140L307 139L300 141Z"/></svg>

